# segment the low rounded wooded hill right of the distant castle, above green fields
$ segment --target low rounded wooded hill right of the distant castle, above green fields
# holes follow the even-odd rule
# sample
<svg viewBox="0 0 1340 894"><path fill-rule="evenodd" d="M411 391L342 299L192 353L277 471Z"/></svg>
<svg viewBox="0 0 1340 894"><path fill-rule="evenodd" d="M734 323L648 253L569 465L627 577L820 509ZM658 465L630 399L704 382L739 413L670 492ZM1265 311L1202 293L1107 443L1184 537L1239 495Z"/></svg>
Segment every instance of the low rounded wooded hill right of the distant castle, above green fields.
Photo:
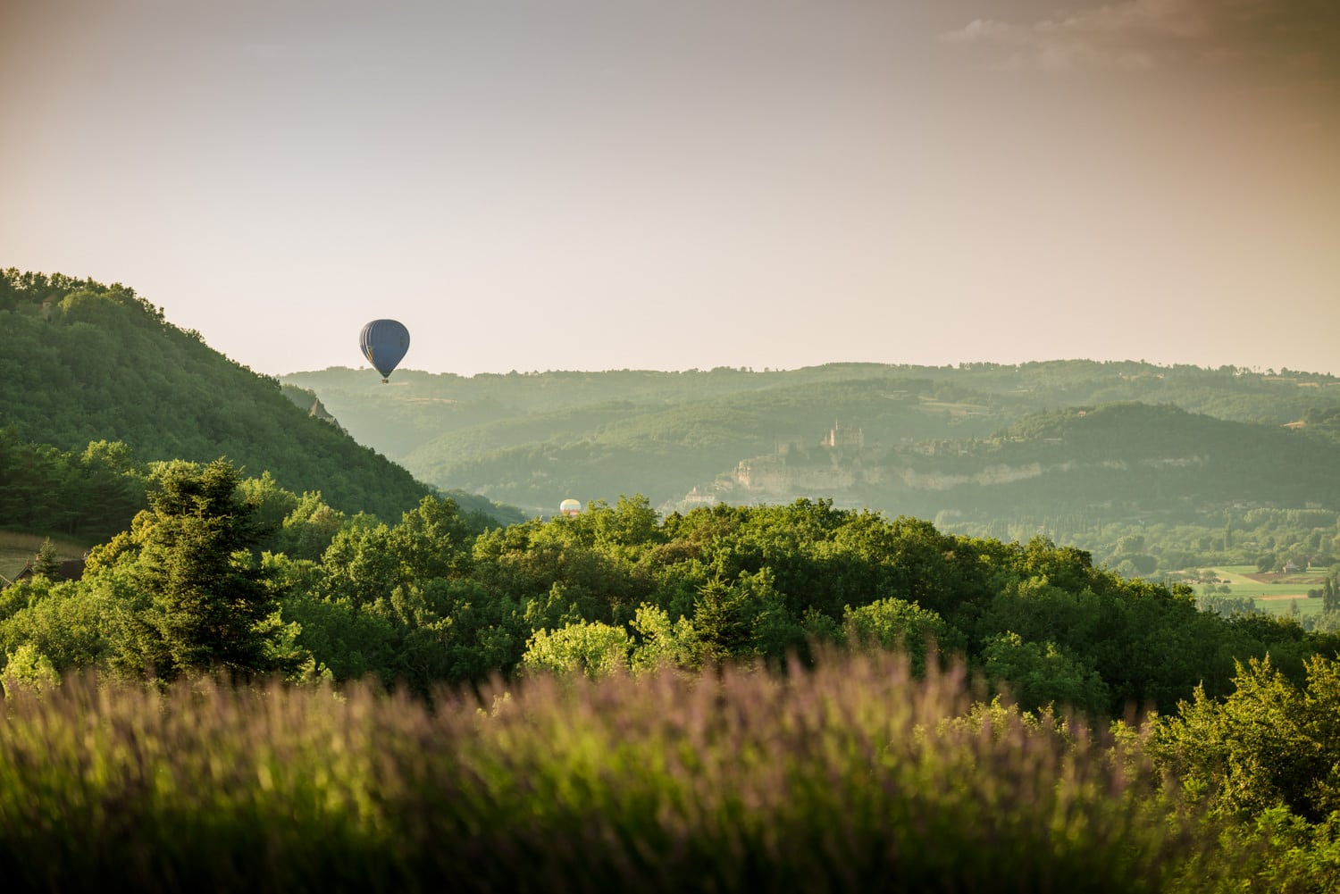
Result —
<svg viewBox="0 0 1340 894"><path fill-rule="evenodd" d="M1340 509L1340 445L1331 437L1170 405L1032 414L992 438L903 450L883 468L890 497L938 504L946 517L1191 520L1233 505Z"/></svg>

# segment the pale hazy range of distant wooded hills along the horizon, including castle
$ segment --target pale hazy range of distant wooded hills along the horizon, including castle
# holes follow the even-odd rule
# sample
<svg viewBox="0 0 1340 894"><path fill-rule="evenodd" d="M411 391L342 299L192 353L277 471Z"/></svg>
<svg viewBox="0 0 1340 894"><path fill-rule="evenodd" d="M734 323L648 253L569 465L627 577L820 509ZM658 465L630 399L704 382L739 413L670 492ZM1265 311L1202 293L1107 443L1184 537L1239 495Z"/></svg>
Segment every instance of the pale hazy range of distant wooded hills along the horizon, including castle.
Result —
<svg viewBox="0 0 1340 894"><path fill-rule="evenodd" d="M803 370L285 377L419 478L552 512L564 497L831 497L989 521L1332 505L1340 379L1055 361ZM1340 508L1340 507L1337 507Z"/></svg>

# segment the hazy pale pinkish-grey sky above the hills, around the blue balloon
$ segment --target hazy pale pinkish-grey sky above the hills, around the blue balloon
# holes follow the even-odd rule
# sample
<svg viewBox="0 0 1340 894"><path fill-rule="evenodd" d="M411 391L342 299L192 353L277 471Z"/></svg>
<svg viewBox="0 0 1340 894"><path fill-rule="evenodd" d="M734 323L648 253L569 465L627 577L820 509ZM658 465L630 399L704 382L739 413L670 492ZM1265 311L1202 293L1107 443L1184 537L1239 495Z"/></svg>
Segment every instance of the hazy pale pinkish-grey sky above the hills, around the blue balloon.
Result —
<svg viewBox="0 0 1340 894"><path fill-rule="evenodd" d="M0 0L0 265L271 374L1340 374L1336 0Z"/></svg>

